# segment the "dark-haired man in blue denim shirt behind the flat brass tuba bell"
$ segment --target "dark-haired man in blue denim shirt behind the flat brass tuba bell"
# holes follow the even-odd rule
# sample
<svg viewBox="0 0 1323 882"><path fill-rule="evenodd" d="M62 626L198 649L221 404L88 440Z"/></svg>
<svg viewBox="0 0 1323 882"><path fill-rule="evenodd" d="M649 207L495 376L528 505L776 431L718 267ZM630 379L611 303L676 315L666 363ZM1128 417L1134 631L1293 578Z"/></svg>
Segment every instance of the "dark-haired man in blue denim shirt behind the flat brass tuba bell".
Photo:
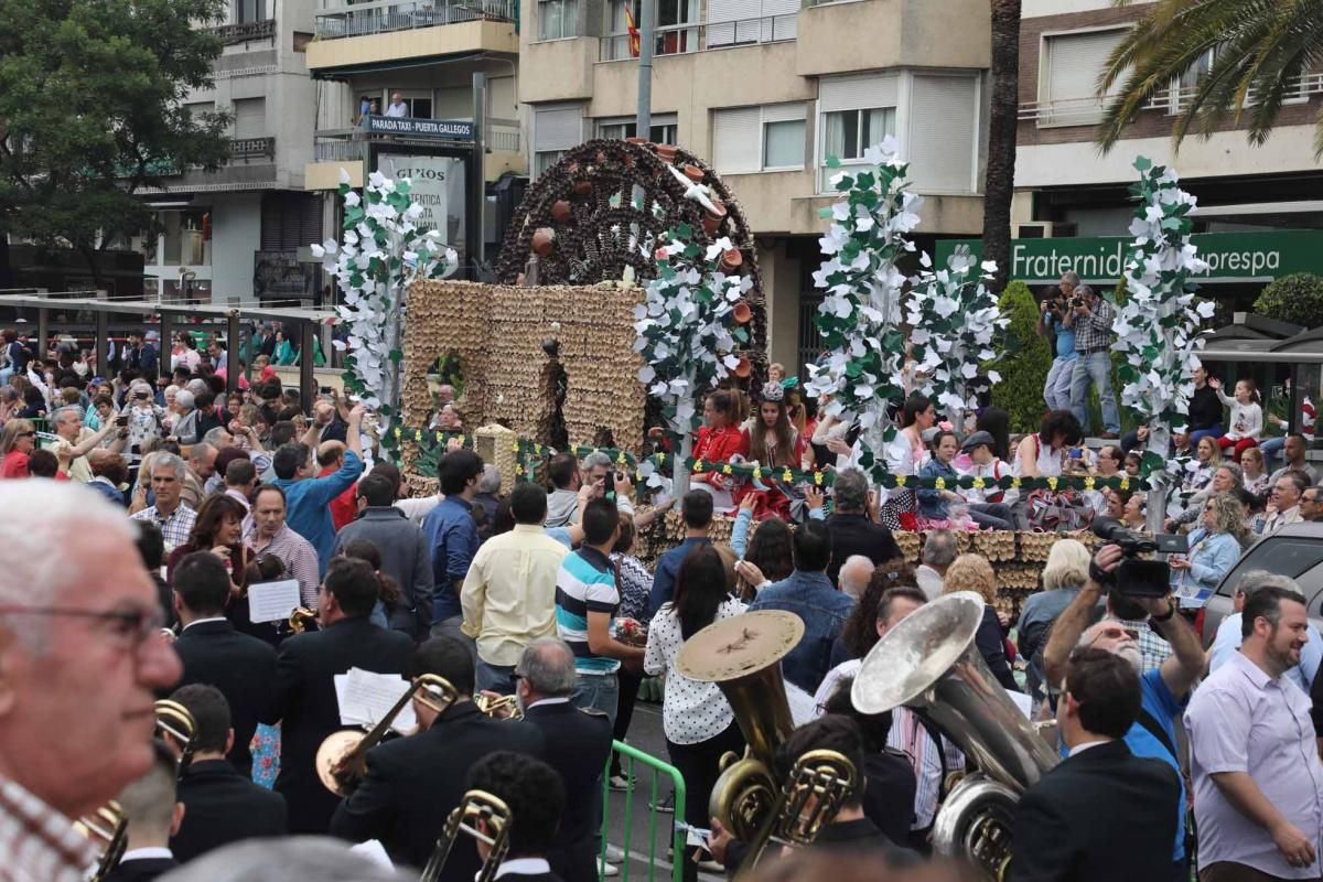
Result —
<svg viewBox="0 0 1323 882"><path fill-rule="evenodd" d="M759 591L749 610L785 610L803 619L804 636L782 659L781 669L787 681L814 694L831 668L832 643L853 612L855 600L827 578L831 532L826 524L808 521L795 530L792 551L795 571Z"/></svg>

